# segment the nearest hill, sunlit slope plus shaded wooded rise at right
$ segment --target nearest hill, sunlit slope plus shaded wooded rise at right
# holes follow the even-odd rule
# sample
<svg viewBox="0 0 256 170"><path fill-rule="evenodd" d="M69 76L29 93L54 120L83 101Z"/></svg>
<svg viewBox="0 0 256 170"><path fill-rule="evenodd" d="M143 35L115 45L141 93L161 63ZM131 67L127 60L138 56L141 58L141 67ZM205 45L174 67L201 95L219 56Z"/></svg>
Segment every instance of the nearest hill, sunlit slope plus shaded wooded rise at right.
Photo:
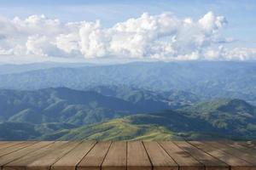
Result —
<svg viewBox="0 0 256 170"><path fill-rule="evenodd" d="M125 116L61 130L41 139L256 139L255 111L240 99L217 99L180 111Z"/></svg>

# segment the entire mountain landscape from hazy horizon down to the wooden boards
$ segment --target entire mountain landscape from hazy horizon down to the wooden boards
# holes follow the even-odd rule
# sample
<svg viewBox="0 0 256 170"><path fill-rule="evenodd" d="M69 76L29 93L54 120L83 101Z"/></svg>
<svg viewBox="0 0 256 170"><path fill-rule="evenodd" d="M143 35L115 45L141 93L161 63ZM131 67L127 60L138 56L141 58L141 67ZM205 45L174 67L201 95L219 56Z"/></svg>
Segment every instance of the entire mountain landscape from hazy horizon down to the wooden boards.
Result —
<svg viewBox="0 0 256 170"><path fill-rule="evenodd" d="M256 63L0 65L0 140L255 139Z"/></svg>

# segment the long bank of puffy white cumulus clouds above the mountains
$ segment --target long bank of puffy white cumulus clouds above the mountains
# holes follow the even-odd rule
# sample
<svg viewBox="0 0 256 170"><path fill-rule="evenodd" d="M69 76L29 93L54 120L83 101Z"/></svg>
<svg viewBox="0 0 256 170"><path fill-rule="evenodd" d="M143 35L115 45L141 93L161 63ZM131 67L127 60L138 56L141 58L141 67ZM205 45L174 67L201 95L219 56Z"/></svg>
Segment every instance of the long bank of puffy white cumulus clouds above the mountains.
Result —
<svg viewBox="0 0 256 170"><path fill-rule="evenodd" d="M200 20L145 13L108 28L98 20L63 23L44 15L25 20L0 17L0 55L25 59L256 59L255 48L216 48L234 41L220 36L226 24L224 16L212 12Z"/></svg>

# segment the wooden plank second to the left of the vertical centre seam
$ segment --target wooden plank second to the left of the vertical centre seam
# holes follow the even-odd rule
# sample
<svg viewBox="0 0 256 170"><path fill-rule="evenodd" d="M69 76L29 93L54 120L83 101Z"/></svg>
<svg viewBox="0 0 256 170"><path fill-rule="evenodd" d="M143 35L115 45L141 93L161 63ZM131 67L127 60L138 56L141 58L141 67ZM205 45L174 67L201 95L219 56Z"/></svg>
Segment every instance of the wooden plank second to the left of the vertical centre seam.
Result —
<svg viewBox="0 0 256 170"><path fill-rule="evenodd" d="M102 162L108 153L111 142L97 143L92 150L79 162L77 169L100 170Z"/></svg>

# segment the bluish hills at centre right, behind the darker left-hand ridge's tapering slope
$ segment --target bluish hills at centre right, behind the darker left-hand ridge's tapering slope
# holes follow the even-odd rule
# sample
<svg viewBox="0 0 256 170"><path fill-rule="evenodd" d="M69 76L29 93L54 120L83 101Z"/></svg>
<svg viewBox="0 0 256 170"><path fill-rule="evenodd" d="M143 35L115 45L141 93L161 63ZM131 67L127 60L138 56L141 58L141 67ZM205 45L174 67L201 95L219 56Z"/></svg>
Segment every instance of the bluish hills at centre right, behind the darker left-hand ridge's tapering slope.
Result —
<svg viewBox="0 0 256 170"><path fill-rule="evenodd" d="M143 88L129 86L96 86L89 88L105 96L124 99L144 108L144 111L160 111L164 109L175 109L184 105L192 105L199 102L201 98L195 94L182 90L152 91Z"/></svg>

